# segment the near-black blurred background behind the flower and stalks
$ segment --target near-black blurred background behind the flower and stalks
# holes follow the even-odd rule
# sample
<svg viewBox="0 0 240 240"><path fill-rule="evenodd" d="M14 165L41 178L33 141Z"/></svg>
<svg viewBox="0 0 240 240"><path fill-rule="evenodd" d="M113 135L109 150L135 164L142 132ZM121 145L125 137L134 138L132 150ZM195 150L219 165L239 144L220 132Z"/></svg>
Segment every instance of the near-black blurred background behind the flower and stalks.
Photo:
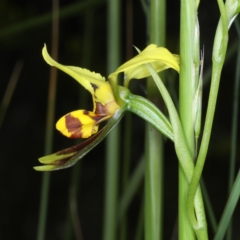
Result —
<svg viewBox="0 0 240 240"><path fill-rule="evenodd" d="M131 2L130 15L129 2ZM86 4L87 3L87 4ZM121 1L120 4L120 63L134 56L132 45L145 48L147 21L140 0ZM179 53L179 1L167 1L166 46ZM1 105L0 125L0 239L36 239L42 173L33 170L44 155L46 114L50 67L44 62L41 49L52 49L52 1L0 1L0 103L11 78L17 79L9 106ZM204 46L206 74L203 94L205 116L211 68L213 38L219 12L216 1L202 1L199 8L201 46ZM58 61L80 66L108 76L107 72L107 1L59 0ZM130 22L132 21L132 25ZM131 27L132 26L132 27ZM132 38L127 39L127 31ZM88 37L86 37L88 36ZM90 37L89 37L90 36ZM87 44L86 44L87 41ZM130 48L131 52L127 51ZM203 176L213 208L219 220L227 200L230 133L232 123L233 84L236 68L238 36L230 31L229 58L224 66L213 135ZM178 79L172 80L172 91L178 94ZM144 81L133 82L132 91L145 96ZM79 94L80 93L80 94ZM85 101L80 101L84 96ZM2 103L1 103L2 104ZM76 109L92 109L91 96L68 75L58 72L55 120ZM144 149L144 122L133 116L131 168L138 163ZM121 125L124 128L124 125ZM52 152L76 144L54 131ZM124 139L121 140L121 142ZM240 165L238 135L237 166ZM103 141L79 163L77 192L78 214L83 239L102 236L104 202ZM165 221L164 239L170 239L177 218L178 163L171 142L165 144ZM69 226L69 194L73 168L51 173L47 229L45 239L76 239ZM120 174L121 176L121 174ZM129 210L129 238L136 228L136 215L142 198L143 182ZM234 225L240 222L239 204ZM236 225L237 226L237 225ZM234 232L239 230L235 227ZM211 233L210 233L211 234ZM68 236L68 238L66 237ZM236 235L237 236L237 235ZM239 236L239 235L238 235Z"/></svg>

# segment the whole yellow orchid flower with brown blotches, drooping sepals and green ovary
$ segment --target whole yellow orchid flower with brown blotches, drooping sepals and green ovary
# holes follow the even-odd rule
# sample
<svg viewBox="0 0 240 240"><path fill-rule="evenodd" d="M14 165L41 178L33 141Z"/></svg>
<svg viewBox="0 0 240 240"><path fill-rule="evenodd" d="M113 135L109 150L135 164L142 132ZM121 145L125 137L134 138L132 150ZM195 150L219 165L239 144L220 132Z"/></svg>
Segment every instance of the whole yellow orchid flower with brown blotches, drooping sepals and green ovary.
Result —
<svg viewBox="0 0 240 240"><path fill-rule="evenodd" d="M136 57L111 73L108 77L109 81L106 81L98 73L56 62L48 54L46 45L43 47L42 54L49 65L67 73L89 91L93 100L92 111L81 109L69 112L58 120L56 128L69 138L89 138L95 135L76 146L39 158L44 165L34 167L35 170L52 171L72 166L105 138L118 124L125 111L137 114L165 136L174 140L172 126L164 114L149 100L132 94L127 86L132 78L140 79L150 76L146 68L148 63L156 72L167 68L173 68L179 72L178 55L150 44ZM117 83L120 72L125 74L125 87ZM108 123L98 131L99 124L105 120L108 120Z"/></svg>

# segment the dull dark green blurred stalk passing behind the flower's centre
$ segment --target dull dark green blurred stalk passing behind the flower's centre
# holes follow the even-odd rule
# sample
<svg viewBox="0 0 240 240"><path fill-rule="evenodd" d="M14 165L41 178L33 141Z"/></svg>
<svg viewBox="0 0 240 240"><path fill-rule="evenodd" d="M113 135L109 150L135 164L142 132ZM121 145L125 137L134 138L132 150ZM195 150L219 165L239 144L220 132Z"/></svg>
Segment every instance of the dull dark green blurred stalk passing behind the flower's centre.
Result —
<svg viewBox="0 0 240 240"><path fill-rule="evenodd" d="M108 73L119 65L120 55L120 1L108 0ZM116 126L107 137L106 172L105 172L105 209L104 240L116 239L118 168L119 168L119 136L120 128Z"/></svg>

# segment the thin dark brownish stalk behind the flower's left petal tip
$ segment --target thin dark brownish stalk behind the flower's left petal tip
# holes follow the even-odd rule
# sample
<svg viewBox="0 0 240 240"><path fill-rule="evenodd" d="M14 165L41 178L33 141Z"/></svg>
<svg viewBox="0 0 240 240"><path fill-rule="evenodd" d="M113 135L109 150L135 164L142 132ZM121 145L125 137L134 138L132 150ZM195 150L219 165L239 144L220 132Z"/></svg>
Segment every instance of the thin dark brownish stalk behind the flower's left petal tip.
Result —
<svg viewBox="0 0 240 240"><path fill-rule="evenodd" d="M57 60L58 58L58 0L52 1L53 14L52 14L52 56ZM55 96L57 85L57 69L50 68L50 81L48 92L48 109L47 109L47 126L46 126L46 139L45 139L45 155L52 152L53 144L53 131L54 131L54 109L55 109ZM48 193L50 188L50 172L44 172L42 177L41 199L37 239L45 239L46 223L47 223L47 209L48 209Z"/></svg>

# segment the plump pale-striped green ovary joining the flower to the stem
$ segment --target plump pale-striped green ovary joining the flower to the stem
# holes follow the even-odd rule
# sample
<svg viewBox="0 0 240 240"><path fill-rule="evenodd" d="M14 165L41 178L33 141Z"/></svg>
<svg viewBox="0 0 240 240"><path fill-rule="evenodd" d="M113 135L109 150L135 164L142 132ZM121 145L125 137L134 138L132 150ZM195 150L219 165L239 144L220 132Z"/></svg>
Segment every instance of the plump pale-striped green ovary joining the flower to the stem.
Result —
<svg viewBox="0 0 240 240"><path fill-rule="evenodd" d="M131 94L127 104L128 110L135 113L163 135L174 141L172 125L159 108L148 99Z"/></svg>

